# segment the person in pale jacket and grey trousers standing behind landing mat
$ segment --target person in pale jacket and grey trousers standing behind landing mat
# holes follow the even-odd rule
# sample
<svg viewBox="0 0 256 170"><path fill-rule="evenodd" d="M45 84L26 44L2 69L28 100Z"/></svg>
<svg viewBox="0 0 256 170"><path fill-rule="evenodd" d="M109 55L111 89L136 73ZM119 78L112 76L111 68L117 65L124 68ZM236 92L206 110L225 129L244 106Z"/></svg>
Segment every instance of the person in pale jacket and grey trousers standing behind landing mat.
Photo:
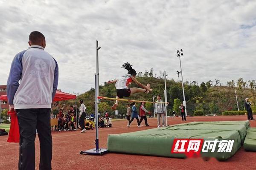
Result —
<svg viewBox="0 0 256 170"><path fill-rule="evenodd" d="M160 95L157 95L157 102L163 102ZM163 103L154 103L154 113L157 114L157 128L160 127L162 119L162 127L165 126L165 107Z"/></svg>

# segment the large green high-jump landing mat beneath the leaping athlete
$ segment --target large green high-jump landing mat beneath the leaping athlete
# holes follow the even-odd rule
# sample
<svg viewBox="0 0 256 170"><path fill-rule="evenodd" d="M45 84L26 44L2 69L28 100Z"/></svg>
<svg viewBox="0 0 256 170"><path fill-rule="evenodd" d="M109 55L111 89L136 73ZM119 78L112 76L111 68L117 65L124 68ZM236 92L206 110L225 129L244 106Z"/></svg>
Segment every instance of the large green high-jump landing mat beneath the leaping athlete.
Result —
<svg viewBox="0 0 256 170"><path fill-rule="evenodd" d="M171 153L174 139L234 140L231 152L218 153L218 149L215 152L201 152L203 157L225 160L239 150L248 126L249 122L246 121L191 122L131 133L111 134L108 136L107 145L111 152L186 158L183 153Z"/></svg>

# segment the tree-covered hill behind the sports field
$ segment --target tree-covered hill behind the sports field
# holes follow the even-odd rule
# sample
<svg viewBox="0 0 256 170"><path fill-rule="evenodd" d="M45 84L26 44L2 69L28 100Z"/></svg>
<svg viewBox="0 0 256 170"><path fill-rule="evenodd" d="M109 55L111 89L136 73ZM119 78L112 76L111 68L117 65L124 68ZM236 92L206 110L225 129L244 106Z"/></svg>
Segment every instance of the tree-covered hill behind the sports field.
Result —
<svg viewBox="0 0 256 170"><path fill-rule="evenodd" d="M134 94L133 96L130 96L130 99L152 101L153 96L160 94L162 96L162 99L164 100L164 79L141 76L137 77L137 79L145 85L149 83L151 85L151 88L153 88L153 92L149 94ZM254 80L250 82L244 82L243 79L240 78L236 83L233 80L227 82L226 86L218 85L218 82L216 82L216 85L212 84L212 81L208 81L206 83L202 82L201 85L197 85L196 82L185 82L184 89L187 101L187 111L190 115L193 114L195 110L202 110L205 113L221 113L228 110L237 110L235 90L237 90L240 110L243 109L243 102L245 97L247 96L249 96L250 100L253 101L253 107L256 104L254 101ZM180 105L180 101L183 100L182 84L181 82L175 82L172 79L166 80L166 85L167 100L169 102L168 113L170 114L173 109L173 105ZM130 87L138 86L136 84L132 84ZM115 98L115 85L107 84L105 82L105 85L101 85L99 87L99 94L100 96ZM79 95L77 101L79 101L80 99L84 100L88 112L94 112L94 88L91 88L90 91ZM108 110L111 113L111 106L113 105L113 103L114 101L102 100L101 104L99 105L99 111L102 113L103 111ZM56 103L53 109L56 110L57 108L62 107L67 110L69 105L74 104L74 100L61 101ZM124 113L126 110L125 104L126 102L120 102L120 105L118 107L119 110L122 110L122 113ZM153 111L153 105L147 104L146 109Z"/></svg>

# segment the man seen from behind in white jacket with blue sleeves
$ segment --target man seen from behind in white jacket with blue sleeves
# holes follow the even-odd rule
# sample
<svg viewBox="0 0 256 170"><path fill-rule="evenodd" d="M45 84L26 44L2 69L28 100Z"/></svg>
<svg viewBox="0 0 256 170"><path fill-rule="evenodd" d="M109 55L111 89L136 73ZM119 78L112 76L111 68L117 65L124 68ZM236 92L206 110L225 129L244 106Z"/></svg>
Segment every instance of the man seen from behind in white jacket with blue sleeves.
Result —
<svg viewBox="0 0 256 170"><path fill-rule="evenodd" d="M45 37L33 31L29 48L18 53L7 81L10 111L17 111L20 128L19 170L35 170L35 130L40 141L39 170L52 169L50 112L58 86L58 64L44 51ZM20 81L20 84L19 84Z"/></svg>

